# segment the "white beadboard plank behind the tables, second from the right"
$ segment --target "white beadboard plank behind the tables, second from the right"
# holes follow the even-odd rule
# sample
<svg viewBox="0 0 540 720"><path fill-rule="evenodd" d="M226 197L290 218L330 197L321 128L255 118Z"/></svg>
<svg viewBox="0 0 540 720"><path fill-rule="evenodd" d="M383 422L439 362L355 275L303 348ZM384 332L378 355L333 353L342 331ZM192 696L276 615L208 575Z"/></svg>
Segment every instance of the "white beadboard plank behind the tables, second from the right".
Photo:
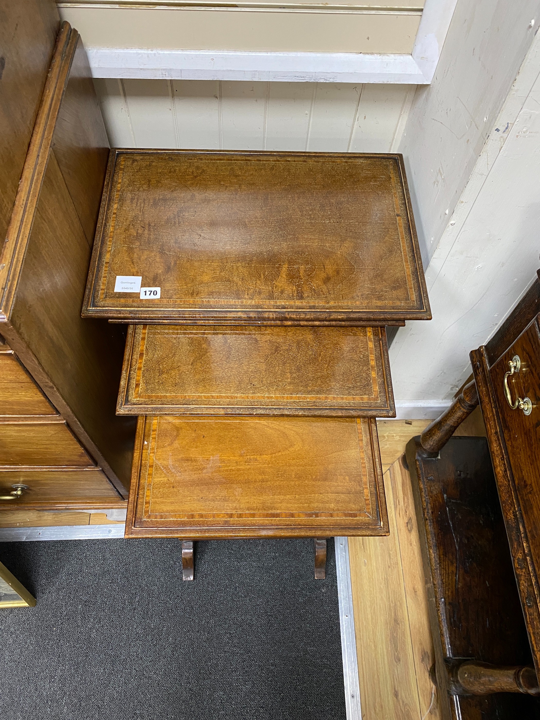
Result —
<svg viewBox="0 0 540 720"><path fill-rule="evenodd" d="M347 83L317 84L307 150L345 153L349 149L361 89Z"/></svg>

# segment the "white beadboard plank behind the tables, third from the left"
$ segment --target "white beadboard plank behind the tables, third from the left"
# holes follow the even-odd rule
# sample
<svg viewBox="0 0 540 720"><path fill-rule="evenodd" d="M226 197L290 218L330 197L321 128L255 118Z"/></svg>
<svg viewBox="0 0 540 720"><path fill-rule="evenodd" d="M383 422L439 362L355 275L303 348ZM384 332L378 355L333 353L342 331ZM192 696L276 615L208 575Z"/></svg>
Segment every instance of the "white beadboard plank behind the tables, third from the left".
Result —
<svg viewBox="0 0 540 720"><path fill-rule="evenodd" d="M179 147L219 150L219 81L174 80L172 87Z"/></svg>

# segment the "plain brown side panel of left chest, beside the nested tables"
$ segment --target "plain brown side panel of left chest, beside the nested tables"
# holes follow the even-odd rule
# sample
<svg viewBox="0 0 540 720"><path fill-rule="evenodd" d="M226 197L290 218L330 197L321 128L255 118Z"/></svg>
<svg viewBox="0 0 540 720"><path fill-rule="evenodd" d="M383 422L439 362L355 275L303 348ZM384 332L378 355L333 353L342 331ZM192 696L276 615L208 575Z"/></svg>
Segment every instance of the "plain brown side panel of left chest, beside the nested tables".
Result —
<svg viewBox="0 0 540 720"><path fill-rule="evenodd" d="M89 261L89 244L50 153L6 337L123 493L135 425L114 414L124 338L121 327L81 319ZM32 358L38 367L30 366Z"/></svg>

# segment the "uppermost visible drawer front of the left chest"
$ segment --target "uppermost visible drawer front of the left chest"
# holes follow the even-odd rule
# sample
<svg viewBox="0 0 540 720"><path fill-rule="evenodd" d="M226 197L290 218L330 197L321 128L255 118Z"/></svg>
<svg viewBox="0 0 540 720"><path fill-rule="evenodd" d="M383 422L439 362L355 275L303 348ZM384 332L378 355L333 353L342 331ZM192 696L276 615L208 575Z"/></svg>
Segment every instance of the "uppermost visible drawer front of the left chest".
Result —
<svg viewBox="0 0 540 720"><path fill-rule="evenodd" d="M56 415L12 351L0 351L0 416Z"/></svg>

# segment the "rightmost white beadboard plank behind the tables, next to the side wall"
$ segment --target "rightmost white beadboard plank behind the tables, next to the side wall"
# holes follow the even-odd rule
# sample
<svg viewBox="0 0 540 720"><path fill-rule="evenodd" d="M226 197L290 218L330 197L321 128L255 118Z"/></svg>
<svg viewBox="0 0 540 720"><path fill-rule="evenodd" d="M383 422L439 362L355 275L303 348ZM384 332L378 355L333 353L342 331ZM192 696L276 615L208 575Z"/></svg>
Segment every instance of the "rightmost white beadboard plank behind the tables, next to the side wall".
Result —
<svg viewBox="0 0 540 720"><path fill-rule="evenodd" d="M351 137L351 153L387 153L409 85L364 85Z"/></svg>

